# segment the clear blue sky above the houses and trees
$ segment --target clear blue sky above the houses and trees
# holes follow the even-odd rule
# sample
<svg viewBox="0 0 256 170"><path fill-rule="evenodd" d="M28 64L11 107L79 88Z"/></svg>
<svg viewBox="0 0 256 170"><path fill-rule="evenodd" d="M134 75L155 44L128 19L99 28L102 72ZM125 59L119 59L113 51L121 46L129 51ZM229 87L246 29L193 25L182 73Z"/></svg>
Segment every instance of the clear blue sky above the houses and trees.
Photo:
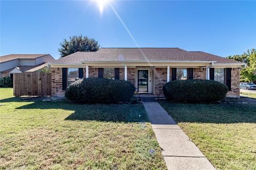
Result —
<svg viewBox="0 0 256 170"><path fill-rule="evenodd" d="M179 47L223 57L256 48L256 1L110 1L102 13L95 1L0 3L1 56L57 59L60 43L74 35L101 47Z"/></svg>

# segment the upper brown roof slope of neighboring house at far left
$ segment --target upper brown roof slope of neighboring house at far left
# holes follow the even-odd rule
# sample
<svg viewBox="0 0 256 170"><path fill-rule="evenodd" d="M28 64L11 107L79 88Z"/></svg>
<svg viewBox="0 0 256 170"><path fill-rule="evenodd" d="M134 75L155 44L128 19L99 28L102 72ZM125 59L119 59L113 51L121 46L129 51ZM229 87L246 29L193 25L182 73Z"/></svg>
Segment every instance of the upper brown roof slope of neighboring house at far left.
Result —
<svg viewBox="0 0 256 170"><path fill-rule="evenodd" d="M9 54L9 55L0 56L0 63L15 60L15 59L22 59L22 58L35 59L45 55L47 54Z"/></svg>

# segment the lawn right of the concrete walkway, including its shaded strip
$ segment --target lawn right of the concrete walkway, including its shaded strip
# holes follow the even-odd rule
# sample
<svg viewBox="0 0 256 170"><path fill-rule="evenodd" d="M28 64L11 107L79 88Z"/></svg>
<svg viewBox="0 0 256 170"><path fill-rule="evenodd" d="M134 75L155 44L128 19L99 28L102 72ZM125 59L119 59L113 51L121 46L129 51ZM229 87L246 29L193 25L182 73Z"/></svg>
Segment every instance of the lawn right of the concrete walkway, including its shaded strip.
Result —
<svg viewBox="0 0 256 170"><path fill-rule="evenodd" d="M255 104L160 104L217 169L256 169Z"/></svg>

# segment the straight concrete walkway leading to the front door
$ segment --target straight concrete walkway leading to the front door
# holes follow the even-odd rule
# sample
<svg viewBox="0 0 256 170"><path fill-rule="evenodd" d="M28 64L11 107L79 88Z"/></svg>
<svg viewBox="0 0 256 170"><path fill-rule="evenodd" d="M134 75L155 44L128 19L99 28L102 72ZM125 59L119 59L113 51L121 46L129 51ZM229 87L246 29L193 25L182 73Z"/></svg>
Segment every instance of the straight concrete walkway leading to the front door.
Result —
<svg viewBox="0 0 256 170"><path fill-rule="evenodd" d="M215 169L161 105L152 101L143 105L168 169Z"/></svg>

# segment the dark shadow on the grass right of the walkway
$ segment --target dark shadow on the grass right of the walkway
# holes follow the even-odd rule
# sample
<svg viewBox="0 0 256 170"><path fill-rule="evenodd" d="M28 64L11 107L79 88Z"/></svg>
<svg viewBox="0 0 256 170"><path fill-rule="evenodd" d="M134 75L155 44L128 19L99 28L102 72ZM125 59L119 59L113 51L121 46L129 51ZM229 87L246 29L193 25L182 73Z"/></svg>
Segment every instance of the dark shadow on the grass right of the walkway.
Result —
<svg viewBox="0 0 256 170"><path fill-rule="evenodd" d="M177 123L256 123L256 104L159 103Z"/></svg>

